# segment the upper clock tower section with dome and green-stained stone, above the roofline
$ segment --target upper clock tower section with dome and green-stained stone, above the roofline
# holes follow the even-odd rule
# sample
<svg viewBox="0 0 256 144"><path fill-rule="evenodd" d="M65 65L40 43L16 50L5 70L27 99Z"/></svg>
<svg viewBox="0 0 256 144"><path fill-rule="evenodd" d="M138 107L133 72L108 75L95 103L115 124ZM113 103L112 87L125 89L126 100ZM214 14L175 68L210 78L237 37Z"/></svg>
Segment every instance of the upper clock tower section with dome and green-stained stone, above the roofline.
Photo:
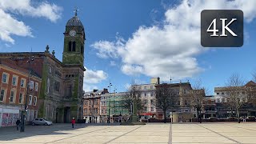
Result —
<svg viewBox="0 0 256 144"><path fill-rule="evenodd" d="M64 64L84 64L85 30L78 18L77 10L73 18L66 22L64 34L64 50L62 62Z"/></svg>

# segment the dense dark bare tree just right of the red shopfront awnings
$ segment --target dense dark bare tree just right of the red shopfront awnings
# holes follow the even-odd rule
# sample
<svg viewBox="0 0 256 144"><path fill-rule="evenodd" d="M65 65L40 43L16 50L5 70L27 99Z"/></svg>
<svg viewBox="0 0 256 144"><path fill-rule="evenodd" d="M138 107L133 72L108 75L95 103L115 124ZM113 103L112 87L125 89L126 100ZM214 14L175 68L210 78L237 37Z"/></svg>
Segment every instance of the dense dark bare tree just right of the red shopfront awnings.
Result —
<svg viewBox="0 0 256 144"><path fill-rule="evenodd" d="M164 122L166 123L166 110L174 109L177 106L178 97L174 94L170 84L164 83L155 87L155 105L163 111Z"/></svg>

